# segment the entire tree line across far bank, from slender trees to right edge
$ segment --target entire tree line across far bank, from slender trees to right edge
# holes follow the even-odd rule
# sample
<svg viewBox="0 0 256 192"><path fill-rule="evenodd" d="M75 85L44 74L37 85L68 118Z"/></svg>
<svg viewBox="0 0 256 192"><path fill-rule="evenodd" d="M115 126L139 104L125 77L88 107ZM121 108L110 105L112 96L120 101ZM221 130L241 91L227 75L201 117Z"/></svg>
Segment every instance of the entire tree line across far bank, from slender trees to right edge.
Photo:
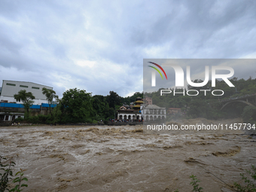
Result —
<svg viewBox="0 0 256 192"><path fill-rule="evenodd" d="M194 83L203 82L202 80L194 80ZM172 93L160 96L160 90L153 93L136 92L133 96L122 97L114 91L110 91L108 96L95 95L87 93L86 90L69 89L63 93L62 99L56 96L53 90L44 89L43 93L47 97L49 106L53 104L53 99L57 103L56 107L50 111L47 116L29 117L34 121L44 121L47 123L96 123L99 120L109 120L117 115L117 109L121 105L130 105L130 102L136 101L137 97L149 96L153 99L153 104L163 108L181 108L181 117L195 118L205 117L208 119L243 117L245 120L256 120L256 109L243 103L234 102L221 109L221 100L233 97L244 96L256 93L256 79L248 78L237 79L232 78L230 82L235 87L229 87L224 81L216 81L216 86L212 87L209 81L204 87L191 87L187 89L170 89ZM167 89L167 88L164 88ZM197 96L187 96L187 90L198 90L200 94ZM210 90L206 93L200 90ZM213 96L212 90L223 90L223 96ZM179 94L173 95L173 92ZM181 94L184 91L185 96ZM29 106L32 105L32 93L20 91L14 96L17 100L23 101L26 107L26 114ZM49 108L50 109L50 108ZM172 118L172 117L169 117Z"/></svg>

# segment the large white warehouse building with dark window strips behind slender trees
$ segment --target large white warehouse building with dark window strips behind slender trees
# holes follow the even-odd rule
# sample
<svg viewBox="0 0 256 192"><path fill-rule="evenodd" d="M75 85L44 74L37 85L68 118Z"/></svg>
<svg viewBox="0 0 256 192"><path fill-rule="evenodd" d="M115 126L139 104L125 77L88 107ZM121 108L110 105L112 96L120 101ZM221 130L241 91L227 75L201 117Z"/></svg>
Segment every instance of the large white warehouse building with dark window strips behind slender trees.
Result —
<svg viewBox="0 0 256 192"><path fill-rule="evenodd" d="M41 105L42 102L47 102L46 96L42 93L43 87L53 90L53 87L32 82L3 80L0 101L17 102L14 99L14 94L17 94L20 90L26 90L26 92L31 92L35 96L34 104Z"/></svg>

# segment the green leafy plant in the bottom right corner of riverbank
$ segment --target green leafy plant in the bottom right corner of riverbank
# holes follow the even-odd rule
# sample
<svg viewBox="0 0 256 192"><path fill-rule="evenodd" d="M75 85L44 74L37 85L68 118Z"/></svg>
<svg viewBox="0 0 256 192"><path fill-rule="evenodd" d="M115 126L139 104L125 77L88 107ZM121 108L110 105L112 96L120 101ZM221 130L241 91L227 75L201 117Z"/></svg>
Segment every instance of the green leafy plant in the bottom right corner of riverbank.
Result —
<svg viewBox="0 0 256 192"><path fill-rule="evenodd" d="M244 173L240 173L242 176L242 180L245 182L245 186L242 186L239 183L234 183L234 186L236 187L237 190L241 192L253 192L256 191L256 166L251 165L251 170L246 170L248 175L252 178L252 180L248 177L245 176Z"/></svg>

